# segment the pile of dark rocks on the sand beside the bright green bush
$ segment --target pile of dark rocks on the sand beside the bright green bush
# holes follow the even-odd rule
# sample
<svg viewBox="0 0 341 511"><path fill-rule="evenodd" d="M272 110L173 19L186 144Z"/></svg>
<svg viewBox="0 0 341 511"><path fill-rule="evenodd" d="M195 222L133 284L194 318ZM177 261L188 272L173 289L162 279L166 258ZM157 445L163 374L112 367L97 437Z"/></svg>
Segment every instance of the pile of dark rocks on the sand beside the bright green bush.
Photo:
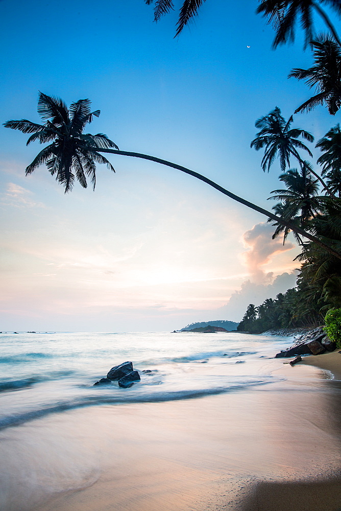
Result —
<svg viewBox="0 0 341 511"><path fill-rule="evenodd" d="M277 353L275 358L293 357L294 355L320 355L325 351L334 351L336 345L322 327L316 328L309 333L304 333L296 337L296 342L287 350Z"/></svg>

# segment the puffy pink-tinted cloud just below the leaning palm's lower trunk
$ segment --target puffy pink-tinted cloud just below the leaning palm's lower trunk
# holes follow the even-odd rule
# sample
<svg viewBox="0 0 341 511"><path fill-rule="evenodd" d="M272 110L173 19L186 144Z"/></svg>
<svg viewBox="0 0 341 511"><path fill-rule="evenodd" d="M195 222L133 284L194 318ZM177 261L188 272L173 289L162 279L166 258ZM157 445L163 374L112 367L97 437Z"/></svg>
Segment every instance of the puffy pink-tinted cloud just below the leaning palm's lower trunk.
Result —
<svg viewBox="0 0 341 511"><path fill-rule="evenodd" d="M273 233L274 227L262 222L243 234L244 245L248 248L243 256L251 274L251 280L255 283L264 284L266 282L267 277L262 266L270 263L272 256L295 248L295 245L290 242L283 245L281 237L273 240Z"/></svg>

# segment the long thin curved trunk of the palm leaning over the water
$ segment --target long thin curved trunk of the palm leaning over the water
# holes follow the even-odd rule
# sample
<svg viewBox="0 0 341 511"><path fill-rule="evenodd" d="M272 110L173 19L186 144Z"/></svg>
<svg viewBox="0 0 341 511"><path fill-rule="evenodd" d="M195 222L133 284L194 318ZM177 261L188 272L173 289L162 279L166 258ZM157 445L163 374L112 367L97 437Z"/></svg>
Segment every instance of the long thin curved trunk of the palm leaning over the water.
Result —
<svg viewBox="0 0 341 511"><path fill-rule="evenodd" d="M290 222L287 222L283 218L280 218L270 211L264 210L262 207L257 206L256 204L253 204L252 202L249 202L248 200L242 199L241 197L238 197L238 195L233 194L232 192L229 192L225 188L221 187L220 185L216 184L214 181L211 181L205 176L202 176L201 174L198 174L198 172L194 172L192 170L186 169L186 167L182 167L181 165L177 165L175 163L172 163L171 161L167 161L161 158L157 158L155 156L150 156L148 154L142 154L142 153L133 153L130 151L119 151L117 149L99 149L96 148L96 151L98 152L104 152L104 153L112 153L112 154L120 154L122 156L133 156L135 158L142 158L147 159L150 161L155 161L156 163L159 163L161 165L165 165L166 167L172 167L173 169L180 170L181 172L184 172L185 174L189 174L190 176L196 177L197 179L200 179L200 181L204 181L204 183L209 184L212 188L215 188L219 192L223 193L224 195L227 195L231 199L239 202L240 204L244 204L247 207L250 207L252 210L257 211L258 213L261 213L262 215L265 215L272 220L275 220L275 222L279 222L289 229L295 231L295 233L300 234L301 236L304 236L310 241L313 241L317 245L320 245L325 250L328 250L328 252L332 253L335 257L338 259L341 259L341 254L330 248L328 245L325 245L322 241L320 241L318 238L315 238L315 236L312 236L309 233L306 233L305 230L301 229L300 227L297 227L296 225L291 224Z"/></svg>

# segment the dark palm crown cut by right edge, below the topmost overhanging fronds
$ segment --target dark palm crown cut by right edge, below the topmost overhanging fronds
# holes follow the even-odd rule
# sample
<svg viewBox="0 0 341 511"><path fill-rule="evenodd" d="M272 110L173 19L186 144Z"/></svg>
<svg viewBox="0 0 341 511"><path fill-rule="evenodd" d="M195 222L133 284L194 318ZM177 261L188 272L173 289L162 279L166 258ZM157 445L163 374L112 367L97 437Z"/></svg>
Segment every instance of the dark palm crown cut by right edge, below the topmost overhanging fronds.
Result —
<svg viewBox="0 0 341 511"><path fill-rule="evenodd" d="M295 68L288 75L305 80L316 93L302 103L297 112L310 112L315 106L326 104L331 115L341 106L341 48L330 36L321 34L311 42L315 63L308 69Z"/></svg>

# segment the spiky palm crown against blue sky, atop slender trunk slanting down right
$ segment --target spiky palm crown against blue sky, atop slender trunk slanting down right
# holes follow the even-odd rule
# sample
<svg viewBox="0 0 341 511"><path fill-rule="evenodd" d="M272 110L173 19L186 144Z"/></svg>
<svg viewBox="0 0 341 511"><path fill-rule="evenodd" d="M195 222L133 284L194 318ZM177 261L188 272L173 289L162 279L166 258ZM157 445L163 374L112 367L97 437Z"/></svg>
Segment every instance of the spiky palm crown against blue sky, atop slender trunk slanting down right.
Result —
<svg viewBox="0 0 341 511"><path fill-rule="evenodd" d="M301 128L292 128L293 116L286 122L281 114L281 110L276 106L267 115L264 115L255 122L256 128L260 128L257 137L251 142L250 147L256 151L265 148L265 153L261 162L263 171L269 172L270 167L279 157L282 172L290 165L290 156L294 156L300 162L302 161L298 149L307 151L312 156L311 151L298 138L302 136L308 142L313 142L314 137L308 131Z"/></svg>

